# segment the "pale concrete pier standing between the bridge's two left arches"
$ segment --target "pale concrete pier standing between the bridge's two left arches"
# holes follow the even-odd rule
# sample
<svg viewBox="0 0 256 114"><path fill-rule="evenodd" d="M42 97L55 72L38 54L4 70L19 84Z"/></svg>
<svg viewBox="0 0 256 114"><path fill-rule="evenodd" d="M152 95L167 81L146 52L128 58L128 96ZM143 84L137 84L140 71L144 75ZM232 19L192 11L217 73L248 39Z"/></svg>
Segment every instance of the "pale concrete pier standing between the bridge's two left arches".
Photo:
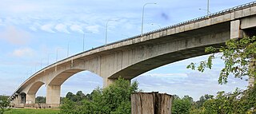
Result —
<svg viewBox="0 0 256 114"><path fill-rule="evenodd" d="M61 86L47 85L46 90L46 104L56 105L60 104Z"/></svg>

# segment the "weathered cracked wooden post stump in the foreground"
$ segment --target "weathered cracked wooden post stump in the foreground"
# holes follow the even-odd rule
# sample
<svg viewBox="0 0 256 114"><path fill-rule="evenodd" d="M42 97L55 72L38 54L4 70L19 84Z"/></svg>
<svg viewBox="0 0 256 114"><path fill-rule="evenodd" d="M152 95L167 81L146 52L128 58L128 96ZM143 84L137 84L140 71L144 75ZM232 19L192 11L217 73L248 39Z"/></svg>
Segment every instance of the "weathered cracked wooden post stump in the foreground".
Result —
<svg viewBox="0 0 256 114"><path fill-rule="evenodd" d="M131 95L132 114L170 114L173 96L158 92L137 92Z"/></svg>

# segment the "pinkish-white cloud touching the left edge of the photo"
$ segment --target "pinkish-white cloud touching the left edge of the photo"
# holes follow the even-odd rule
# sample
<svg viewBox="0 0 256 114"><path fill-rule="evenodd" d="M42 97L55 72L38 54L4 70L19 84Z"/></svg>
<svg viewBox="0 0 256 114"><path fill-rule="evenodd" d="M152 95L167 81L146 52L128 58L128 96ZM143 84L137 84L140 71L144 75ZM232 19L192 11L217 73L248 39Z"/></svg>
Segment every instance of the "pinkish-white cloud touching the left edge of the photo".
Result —
<svg viewBox="0 0 256 114"><path fill-rule="evenodd" d="M3 32L0 32L0 39L9 41L14 45L23 45L30 41L30 33L14 26L7 26Z"/></svg>

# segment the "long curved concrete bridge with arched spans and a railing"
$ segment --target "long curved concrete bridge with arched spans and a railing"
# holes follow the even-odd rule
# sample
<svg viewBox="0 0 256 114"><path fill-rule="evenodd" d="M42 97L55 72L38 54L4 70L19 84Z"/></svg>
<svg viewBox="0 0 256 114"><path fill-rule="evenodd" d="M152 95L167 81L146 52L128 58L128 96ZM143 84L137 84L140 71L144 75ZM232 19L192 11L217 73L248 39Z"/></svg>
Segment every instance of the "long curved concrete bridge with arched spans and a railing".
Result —
<svg viewBox="0 0 256 114"><path fill-rule="evenodd" d="M205 55L207 46L221 46L232 38L255 35L255 31L256 2L250 2L58 61L34 73L10 100L12 104L34 104L36 92L46 85L46 104L54 107L60 103L61 85L75 73L96 73L107 86L118 77L131 80L162 65Z"/></svg>

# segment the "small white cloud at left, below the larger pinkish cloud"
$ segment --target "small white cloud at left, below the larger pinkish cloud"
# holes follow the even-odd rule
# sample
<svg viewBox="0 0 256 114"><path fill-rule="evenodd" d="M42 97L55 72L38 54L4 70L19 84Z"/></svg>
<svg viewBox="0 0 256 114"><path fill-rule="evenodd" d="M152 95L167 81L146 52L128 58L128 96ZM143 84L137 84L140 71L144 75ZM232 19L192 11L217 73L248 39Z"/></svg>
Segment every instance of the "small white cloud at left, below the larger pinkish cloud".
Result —
<svg viewBox="0 0 256 114"><path fill-rule="evenodd" d="M32 57L34 56L34 50L30 48L15 49L13 55L15 57Z"/></svg>

